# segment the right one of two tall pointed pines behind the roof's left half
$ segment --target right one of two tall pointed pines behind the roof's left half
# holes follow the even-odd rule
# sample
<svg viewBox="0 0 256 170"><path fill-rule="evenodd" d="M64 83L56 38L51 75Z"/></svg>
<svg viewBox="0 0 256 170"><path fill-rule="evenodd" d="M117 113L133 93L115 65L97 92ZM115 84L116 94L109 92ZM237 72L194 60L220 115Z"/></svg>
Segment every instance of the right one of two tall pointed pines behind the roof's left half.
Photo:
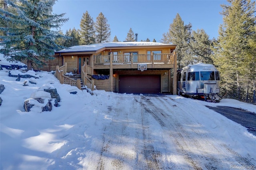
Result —
<svg viewBox="0 0 256 170"><path fill-rule="evenodd" d="M110 39L110 25L105 16L100 12L96 18L95 23L95 32L96 32L96 43L109 42Z"/></svg>

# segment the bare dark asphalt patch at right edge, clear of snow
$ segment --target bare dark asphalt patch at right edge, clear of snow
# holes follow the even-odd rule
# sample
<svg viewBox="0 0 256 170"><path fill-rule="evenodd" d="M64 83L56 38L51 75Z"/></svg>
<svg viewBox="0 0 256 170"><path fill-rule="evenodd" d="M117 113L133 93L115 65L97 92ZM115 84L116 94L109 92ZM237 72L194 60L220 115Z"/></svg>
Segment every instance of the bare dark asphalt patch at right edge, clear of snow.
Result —
<svg viewBox="0 0 256 170"><path fill-rule="evenodd" d="M227 106L217 106L217 107L206 106L206 107L248 128L248 131L256 136L256 113L252 113L239 108L227 107Z"/></svg>

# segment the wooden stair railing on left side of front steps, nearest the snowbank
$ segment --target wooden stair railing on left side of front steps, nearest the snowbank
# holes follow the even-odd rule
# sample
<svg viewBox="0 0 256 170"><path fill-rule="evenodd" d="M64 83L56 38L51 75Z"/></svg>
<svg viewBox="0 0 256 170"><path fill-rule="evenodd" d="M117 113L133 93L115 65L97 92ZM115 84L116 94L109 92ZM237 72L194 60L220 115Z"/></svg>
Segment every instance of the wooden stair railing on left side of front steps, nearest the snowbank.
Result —
<svg viewBox="0 0 256 170"><path fill-rule="evenodd" d="M72 86L76 86L78 89L81 89L81 80L80 79L72 79L70 77L67 77L66 74L67 72L67 63L65 63L65 65L59 67L58 65L56 65L56 72L55 72L55 76L57 77L57 79L60 81L61 84L68 84L68 85L72 85Z"/></svg>

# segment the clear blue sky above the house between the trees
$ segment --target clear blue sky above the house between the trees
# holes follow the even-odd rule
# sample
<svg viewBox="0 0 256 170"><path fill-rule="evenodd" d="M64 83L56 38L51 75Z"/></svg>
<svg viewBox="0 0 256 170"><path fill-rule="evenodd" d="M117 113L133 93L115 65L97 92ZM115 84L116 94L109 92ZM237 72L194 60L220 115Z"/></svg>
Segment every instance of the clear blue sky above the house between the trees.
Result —
<svg viewBox="0 0 256 170"><path fill-rule="evenodd" d="M218 37L222 24L222 8L226 0L58 0L53 6L55 14L66 13L69 18L61 30L80 29L83 13L88 11L94 22L102 12L111 29L111 42L114 36L124 41L132 28L138 33L138 41L160 42L162 34L168 32L170 24L178 13L184 24L192 24L192 30L204 29L210 39Z"/></svg>

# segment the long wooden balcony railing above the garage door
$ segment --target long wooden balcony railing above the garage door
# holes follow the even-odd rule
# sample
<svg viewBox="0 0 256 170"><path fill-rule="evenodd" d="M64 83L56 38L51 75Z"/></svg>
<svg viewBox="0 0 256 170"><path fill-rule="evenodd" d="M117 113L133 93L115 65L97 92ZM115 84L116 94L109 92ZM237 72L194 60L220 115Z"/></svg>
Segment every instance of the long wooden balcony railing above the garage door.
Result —
<svg viewBox="0 0 256 170"><path fill-rule="evenodd" d="M113 55L115 63L174 63L174 53ZM94 56L94 64L110 63L110 55Z"/></svg>

